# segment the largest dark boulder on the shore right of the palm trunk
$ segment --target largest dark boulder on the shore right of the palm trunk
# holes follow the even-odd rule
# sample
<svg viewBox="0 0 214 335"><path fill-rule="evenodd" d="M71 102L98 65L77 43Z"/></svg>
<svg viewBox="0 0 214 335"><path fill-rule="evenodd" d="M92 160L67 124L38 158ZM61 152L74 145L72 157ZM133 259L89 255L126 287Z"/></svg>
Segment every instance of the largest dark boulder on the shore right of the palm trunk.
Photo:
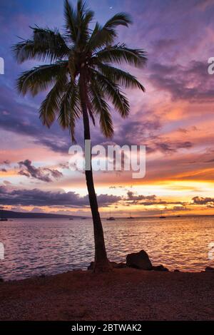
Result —
<svg viewBox="0 0 214 335"><path fill-rule="evenodd" d="M136 269L142 270L152 270L153 266L151 260L148 258L146 251L141 250L133 254L128 254L126 256L127 267L134 267Z"/></svg>

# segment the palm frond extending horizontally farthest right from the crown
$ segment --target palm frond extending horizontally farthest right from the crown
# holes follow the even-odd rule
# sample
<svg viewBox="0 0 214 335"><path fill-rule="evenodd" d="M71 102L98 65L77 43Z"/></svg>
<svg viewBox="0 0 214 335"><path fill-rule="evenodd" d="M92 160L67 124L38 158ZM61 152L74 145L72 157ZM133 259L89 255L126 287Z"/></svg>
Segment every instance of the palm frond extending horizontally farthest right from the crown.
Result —
<svg viewBox="0 0 214 335"><path fill-rule="evenodd" d="M100 62L126 63L136 68L143 68L146 65L146 51L143 49L127 48L125 44L106 46L103 50L95 53L95 58Z"/></svg>

